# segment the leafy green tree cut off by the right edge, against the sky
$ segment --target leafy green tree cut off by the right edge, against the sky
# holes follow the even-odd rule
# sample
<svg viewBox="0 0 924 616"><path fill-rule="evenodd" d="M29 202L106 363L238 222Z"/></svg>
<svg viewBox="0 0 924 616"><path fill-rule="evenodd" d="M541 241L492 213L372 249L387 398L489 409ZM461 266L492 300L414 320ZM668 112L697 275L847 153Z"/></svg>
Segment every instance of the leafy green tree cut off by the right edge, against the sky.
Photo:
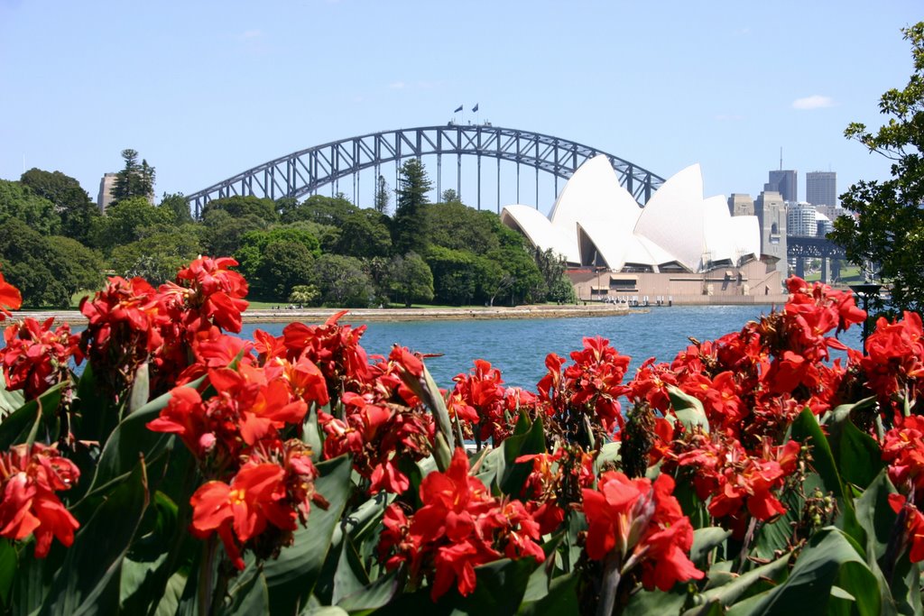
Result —
<svg viewBox="0 0 924 616"><path fill-rule="evenodd" d="M841 196L857 218L842 216L828 235L855 263L872 265L876 277L891 286L894 310L924 309L924 22L902 30L911 43L914 73L904 90L882 94L879 107L889 116L875 133L853 123L845 130L869 149L892 161L892 177L862 180ZM870 272L868 272L869 275ZM883 310L879 296L870 304Z"/></svg>

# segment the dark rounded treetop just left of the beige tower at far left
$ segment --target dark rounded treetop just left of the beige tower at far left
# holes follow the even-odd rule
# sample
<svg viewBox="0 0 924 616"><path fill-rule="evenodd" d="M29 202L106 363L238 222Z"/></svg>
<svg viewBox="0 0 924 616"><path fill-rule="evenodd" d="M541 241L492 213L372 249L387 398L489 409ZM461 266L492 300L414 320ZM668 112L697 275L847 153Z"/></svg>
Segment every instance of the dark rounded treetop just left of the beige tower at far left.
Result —
<svg viewBox="0 0 924 616"><path fill-rule="evenodd" d="M19 178L19 183L52 202L61 218L62 235L88 242L91 223L99 217L100 210L76 179L60 171L33 167Z"/></svg>

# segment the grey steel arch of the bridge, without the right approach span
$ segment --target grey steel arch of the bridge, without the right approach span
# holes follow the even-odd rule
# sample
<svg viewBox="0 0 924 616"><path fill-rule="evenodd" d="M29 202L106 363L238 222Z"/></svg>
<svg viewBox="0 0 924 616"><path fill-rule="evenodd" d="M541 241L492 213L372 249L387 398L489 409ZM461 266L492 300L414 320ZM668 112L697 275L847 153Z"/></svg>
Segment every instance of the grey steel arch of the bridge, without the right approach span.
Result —
<svg viewBox="0 0 924 616"><path fill-rule="evenodd" d="M577 167L598 154L610 159L619 183L639 203L647 202L654 190L664 182L660 175L655 175L635 163L568 139L487 124L449 124L442 127L387 130L292 152L194 192L186 199L199 218L202 207L212 199L234 195L255 195L274 200L285 197L298 198L342 177L357 174L363 169L375 169L375 176L378 177L379 167L383 163L397 164L402 159L412 156L419 158L433 154L437 156L438 194L442 194L440 176L443 154L456 154L457 182L461 181L459 178L462 155L478 157L479 201L482 157L497 159L498 174L501 161L517 163L517 196L519 165L536 169L537 192L539 172L552 174L555 177L557 193L559 177L571 177L577 171ZM500 181L498 198L499 185Z"/></svg>

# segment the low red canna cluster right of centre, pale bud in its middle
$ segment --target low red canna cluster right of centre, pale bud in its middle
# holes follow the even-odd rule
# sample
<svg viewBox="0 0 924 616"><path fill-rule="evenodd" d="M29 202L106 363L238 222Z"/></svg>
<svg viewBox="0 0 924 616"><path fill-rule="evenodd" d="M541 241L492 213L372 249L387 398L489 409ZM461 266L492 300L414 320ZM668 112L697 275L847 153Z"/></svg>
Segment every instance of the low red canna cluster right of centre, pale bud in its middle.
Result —
<svg viewBox="0 0 924 616"><path fill-rule="evenodd" d="M582 491L590 559L618 559L624 575L640 567L642 586L649 590L667 591L677 582L703 577L687 557L693 526L673 495L673 478L662 474L652 485L644 477L609 471L597 489Z"/></svg>

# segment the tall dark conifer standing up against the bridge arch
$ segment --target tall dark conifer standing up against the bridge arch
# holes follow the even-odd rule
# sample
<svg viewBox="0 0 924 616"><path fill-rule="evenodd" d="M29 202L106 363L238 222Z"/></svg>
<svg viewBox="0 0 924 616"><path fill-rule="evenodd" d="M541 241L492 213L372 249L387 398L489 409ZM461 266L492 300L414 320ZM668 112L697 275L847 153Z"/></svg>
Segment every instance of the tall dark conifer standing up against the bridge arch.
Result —
<svg viewBox="0 0 924 616"><path fill-rule="evenodd" d="M395 253L423 253L429 243L426 206L427 192L432 187L423 163L416 158L401 165L398 188L395 191L395 219L392 223L392 244Z"/></svg>

